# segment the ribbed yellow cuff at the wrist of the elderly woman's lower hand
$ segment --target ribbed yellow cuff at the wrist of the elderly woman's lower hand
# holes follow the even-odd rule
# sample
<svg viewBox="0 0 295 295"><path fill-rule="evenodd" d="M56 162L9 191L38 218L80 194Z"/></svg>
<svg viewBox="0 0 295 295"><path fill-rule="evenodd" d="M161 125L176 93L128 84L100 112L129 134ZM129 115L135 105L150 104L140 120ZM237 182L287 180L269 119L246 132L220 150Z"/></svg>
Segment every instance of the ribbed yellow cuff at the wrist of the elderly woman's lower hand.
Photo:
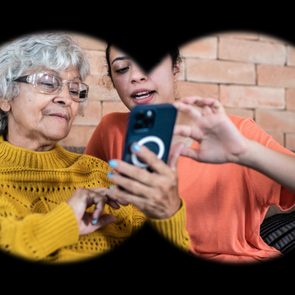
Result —
<svg viewBox="0 0 295 295"><path fill-rule="evenodd" d="M35 234L44 253L76 243L79 239L77 219L67 203L62 203L40 218L35 225Z"/></svg>

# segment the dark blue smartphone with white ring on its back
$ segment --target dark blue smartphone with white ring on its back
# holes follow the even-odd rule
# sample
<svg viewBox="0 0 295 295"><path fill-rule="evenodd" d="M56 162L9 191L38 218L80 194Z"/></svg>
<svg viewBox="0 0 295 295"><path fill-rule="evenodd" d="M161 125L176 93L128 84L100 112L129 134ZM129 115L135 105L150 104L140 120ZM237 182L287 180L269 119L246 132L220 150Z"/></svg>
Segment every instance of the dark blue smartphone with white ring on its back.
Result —
<svg viewBox="0 0 295 295"><path fill-rule="evenodd" d="M148 168L131 152L137 142L153 151L165 163L168 161L177 109L168 103L137 105L130 114L123 148L123 160L141 168Z"/></svg>

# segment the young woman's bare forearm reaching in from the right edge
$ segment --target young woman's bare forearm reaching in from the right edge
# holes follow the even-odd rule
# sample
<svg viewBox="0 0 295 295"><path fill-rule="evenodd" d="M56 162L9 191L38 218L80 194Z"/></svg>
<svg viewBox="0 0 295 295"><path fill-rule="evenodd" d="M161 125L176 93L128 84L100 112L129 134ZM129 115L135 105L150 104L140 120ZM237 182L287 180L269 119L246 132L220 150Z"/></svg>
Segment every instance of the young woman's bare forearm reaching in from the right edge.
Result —
<svg viewBox="0 0 295 295"><path fill-rule="evenodd" d="M246 152L239 155L235 163L258 170L295 191L295 156L286 155L256 141L247 140Z"/></svg>

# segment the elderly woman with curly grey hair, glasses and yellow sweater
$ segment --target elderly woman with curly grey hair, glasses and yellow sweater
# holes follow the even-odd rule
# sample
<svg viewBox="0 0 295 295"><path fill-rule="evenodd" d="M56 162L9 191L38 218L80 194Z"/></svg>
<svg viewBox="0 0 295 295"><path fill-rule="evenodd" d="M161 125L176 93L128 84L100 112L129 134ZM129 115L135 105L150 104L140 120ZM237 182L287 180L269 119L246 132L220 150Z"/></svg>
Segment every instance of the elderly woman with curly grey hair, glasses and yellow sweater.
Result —
<svg viewBox="0 0 295 295"><path fill-rule="evenodd" d="M84 259L114 248L146 218L187 249L175 167L135 146L154 172L118 160L109 173L102 160L57 144L87 98L88 73L66 34L29 35L0 48L1 249L33 260ZM109 179L118 186L107 189Z"/></svg>

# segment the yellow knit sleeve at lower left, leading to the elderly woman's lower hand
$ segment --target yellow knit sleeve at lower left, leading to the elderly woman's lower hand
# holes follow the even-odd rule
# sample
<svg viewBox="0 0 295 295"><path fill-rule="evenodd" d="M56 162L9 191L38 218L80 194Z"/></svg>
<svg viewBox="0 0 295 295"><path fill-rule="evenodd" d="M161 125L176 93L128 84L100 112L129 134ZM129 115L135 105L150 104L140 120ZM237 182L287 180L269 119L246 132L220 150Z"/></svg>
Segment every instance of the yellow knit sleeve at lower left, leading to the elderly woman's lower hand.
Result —
<svg viewBox="0 0 295 295"><path fill-rule="evenodd" d="M67 203L46 214L19 217L5 198L0 198L0 247L12 254L39 260L78 241L76 218Z"/></svg>

